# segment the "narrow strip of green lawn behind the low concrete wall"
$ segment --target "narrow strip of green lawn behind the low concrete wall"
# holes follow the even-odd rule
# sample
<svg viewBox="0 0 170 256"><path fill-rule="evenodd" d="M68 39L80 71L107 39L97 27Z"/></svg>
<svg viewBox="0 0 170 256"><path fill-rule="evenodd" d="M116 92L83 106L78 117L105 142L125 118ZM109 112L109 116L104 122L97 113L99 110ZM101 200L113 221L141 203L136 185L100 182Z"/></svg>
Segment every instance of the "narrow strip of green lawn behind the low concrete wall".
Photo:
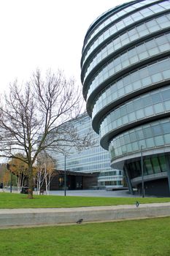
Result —
<svg viewBox="0 0 170 256"><path fill-rule="evenodd" d="M114 206L139 203L170 202L169 197L73 197L56 195L34 195L28 199L27 195L15 193L0 193L0 208L61 208L80 206Z"/></svg>

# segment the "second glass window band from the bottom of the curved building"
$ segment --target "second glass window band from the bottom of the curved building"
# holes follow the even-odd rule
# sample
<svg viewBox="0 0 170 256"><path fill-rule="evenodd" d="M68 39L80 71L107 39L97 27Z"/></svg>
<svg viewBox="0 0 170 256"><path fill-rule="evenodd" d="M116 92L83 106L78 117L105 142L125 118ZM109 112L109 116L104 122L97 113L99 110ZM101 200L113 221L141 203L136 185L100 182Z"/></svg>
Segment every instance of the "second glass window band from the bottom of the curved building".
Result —
<svg viewBox="0 0 170 256"><path fill-rule="evenodd" d="M104 120L101 121L100 125L101 138L108 132L120 127L125 127L127 124L137 122L150 116L158 116L159 114L169 112L169 110L166 110L162 92L163 94L166 93L166 102L169 102L170 105L170 86L166 86L163 87L163 89L157 89L147 94L142 94L141 97L136 97L112 112L107 113L107 116L104 117ZM155 129L158 128L155 127ZM161 129L159 130L158 135L161 135Z"/></svg>

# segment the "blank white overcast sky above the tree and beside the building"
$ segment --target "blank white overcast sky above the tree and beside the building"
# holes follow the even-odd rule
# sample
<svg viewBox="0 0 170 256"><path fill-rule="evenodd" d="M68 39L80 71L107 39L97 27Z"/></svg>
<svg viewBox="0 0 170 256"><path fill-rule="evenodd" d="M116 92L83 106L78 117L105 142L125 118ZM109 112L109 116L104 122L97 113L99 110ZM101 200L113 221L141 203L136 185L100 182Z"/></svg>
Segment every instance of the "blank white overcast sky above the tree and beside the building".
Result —
<svg viewBox="0 0 170 256"><path fill-rule="evenodd" d="M85 33L93 20L127 0L0 0L0 92L36 68L63 69L80 84Z"/></svg>

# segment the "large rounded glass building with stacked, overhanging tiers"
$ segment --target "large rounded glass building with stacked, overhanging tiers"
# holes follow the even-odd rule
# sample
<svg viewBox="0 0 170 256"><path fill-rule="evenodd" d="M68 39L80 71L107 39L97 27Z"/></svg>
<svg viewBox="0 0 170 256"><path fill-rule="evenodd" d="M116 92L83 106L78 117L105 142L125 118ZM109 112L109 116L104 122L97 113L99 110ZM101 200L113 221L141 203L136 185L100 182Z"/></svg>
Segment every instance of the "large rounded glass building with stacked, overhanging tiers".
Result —
<svg viewBox="0 0 170 256"><path fill-rule="evenodd" d="M131 193L170 195L170 1L129 1L85 35L83 96Z"/></svg>

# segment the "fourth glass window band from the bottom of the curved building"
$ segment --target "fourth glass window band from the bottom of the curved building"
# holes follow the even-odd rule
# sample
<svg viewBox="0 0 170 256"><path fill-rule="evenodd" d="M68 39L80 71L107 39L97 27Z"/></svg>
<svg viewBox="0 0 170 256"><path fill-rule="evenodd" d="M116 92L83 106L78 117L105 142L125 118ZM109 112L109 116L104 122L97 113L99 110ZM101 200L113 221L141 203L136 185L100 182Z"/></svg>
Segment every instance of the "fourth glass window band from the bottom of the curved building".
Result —
<svg viewBox="0 0 170 256"><path fill-rule="evenodd" d="M142 53L138 53L139 50L142 50ZM127 67L140 63L140 61L150 59L153 56L159 56L169 50L170 34L163 34L160 37L156 37L150 41L144 42L142 45L137 45L131 50L125 51L125 53L117 56L117 58L112 59L105 64L105 66L99 69L93 78L91 78L88 89L88 97L94 89L100 86L101 83L104 83L104 81L109 77L117 74Z"/></svg>

